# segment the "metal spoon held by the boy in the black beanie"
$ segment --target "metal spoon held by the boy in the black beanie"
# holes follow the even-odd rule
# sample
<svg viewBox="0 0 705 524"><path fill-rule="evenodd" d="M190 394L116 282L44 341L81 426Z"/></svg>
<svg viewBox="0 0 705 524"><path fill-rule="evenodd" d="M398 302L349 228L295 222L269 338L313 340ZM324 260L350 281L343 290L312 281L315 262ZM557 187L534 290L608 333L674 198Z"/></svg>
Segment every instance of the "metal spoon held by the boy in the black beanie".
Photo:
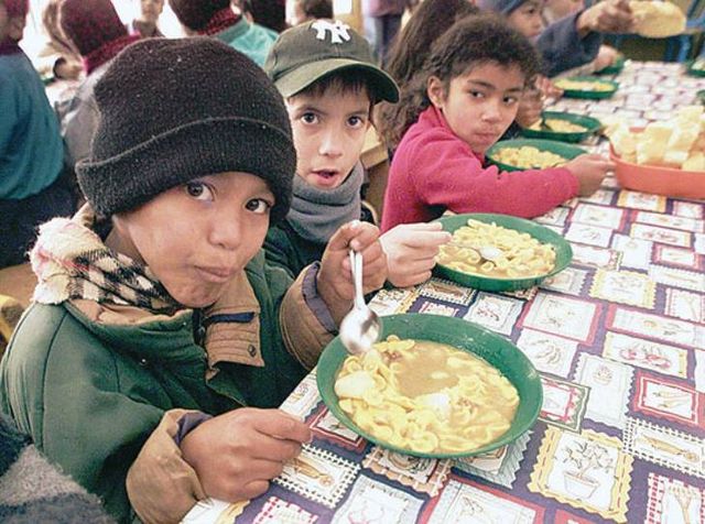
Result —
<svg viewBox="0 0 705 524"><path fill-rule="evenodd" d="M349 255L355 282L355 304L340 323L340 341L350 354L361 354L369 351L379 340L381 324L377 314L365 304L362 255L352 250Z"/></svg>

